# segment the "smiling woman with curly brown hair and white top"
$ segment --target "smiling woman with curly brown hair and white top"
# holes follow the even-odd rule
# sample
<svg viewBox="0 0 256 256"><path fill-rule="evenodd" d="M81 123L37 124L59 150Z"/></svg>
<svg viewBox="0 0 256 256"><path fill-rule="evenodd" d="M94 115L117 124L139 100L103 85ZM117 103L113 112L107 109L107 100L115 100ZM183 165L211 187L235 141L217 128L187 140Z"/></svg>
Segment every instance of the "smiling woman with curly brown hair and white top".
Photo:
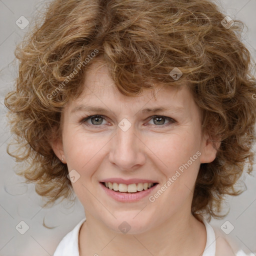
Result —
<svg viewBox="0 0 256 256"><path fill-rule="evenodd" d="M5 105L20 174L48 203L74 191L84 207L54 256L242 253L205 219L252 170L237 29L208 0L52 1Z"/></svg>

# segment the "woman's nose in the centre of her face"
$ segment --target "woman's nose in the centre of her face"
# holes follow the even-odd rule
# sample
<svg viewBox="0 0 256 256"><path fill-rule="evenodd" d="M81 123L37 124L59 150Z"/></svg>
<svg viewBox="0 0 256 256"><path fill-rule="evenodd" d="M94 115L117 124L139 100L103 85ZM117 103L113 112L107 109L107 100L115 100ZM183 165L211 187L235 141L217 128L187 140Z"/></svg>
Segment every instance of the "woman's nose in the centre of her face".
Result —
<svg viewBox="0 0 256 256"><path fill-rule="evenodd" d="M135 170L145 163L145 147L133 126L126 131L117 127L116 135L111 139L109 161L119 170Z"/></svg>

